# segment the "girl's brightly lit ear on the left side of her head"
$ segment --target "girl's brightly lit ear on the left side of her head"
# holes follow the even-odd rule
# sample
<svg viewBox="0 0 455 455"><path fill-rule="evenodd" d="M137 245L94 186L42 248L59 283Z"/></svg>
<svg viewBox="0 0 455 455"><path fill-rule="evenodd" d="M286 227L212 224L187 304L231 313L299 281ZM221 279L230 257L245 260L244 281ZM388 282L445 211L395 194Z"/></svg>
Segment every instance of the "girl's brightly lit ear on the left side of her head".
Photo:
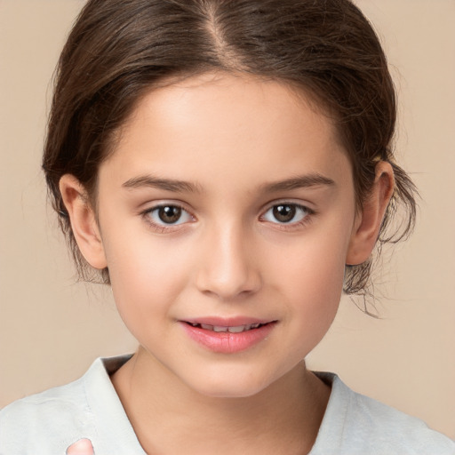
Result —
<svg viewBox="0 0 455 455"><path fill-rule="evenodd" d="M95 268L108 267L100 228L84 186L73 175L65 174L59 187L77 246L85 260Z"/></svg>

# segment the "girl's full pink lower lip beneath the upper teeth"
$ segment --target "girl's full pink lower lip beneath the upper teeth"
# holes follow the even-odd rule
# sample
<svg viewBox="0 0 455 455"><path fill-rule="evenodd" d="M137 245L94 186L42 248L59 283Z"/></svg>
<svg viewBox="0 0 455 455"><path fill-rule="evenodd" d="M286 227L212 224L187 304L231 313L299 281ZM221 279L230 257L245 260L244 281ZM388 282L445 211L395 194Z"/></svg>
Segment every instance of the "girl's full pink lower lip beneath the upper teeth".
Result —
<svg viewBox="0 0 455 455"><path fill-rule="evenodd" d="M189 338L212 352L234 354L244 351L267 338L275 327L275 323L267 323L257 329L231 333L229 331L207 331L201 327L193 327L188 323L181 323Z"/></svg>

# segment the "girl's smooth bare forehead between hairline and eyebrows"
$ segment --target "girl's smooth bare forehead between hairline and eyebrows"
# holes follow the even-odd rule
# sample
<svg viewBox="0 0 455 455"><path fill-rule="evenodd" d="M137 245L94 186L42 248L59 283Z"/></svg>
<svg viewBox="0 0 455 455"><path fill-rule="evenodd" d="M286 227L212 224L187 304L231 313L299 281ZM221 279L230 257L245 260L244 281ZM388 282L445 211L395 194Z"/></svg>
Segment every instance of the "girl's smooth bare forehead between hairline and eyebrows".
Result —
<svg viewBox="0 0 455 455"><path fill-rule="evenodd" d="M331 173L340 160L346 154L334 125L305 92L255 76L205 74L141 98L100 172L108 165L124 180L171 172L206 181L235 173L261 184Z"/></svg>

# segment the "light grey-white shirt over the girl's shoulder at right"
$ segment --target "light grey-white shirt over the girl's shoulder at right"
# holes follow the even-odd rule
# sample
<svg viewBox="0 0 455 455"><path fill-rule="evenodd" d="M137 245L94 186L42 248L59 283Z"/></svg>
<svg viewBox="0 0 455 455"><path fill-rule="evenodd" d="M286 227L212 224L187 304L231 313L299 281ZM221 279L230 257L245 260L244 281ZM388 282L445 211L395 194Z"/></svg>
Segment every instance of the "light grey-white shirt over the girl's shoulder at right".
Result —
<svg viewBox="0 0 455 455"><path fill-rule="evenodd" d="M455 443L422 420L355 393L336 375L320 376L332 391L311 455L455 455Z"/></svg>

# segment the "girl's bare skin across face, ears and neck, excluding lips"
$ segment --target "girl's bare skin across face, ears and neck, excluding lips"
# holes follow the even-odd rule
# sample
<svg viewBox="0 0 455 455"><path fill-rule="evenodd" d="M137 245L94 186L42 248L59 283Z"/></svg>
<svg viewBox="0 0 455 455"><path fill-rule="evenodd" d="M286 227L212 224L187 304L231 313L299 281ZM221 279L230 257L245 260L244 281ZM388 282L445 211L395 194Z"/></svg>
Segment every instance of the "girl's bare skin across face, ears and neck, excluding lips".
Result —
<svg viewBox="0 0 455 455"><path fill-rule="evenodd" d="M336 129L301 94L226 74L168 85L140 100L100 165L97 213L74 177L60 180L79 248L108 267L140 343L112 381L148 453L301 454L315 442L330 388L304 359L337 312L345 264L371 254L394 180L379 163L357 210ZM177 224L159 204L184 209ZM279 204L294 218L277 220ZM182 330L203 316L275 323L226 354Z"/></svg>

